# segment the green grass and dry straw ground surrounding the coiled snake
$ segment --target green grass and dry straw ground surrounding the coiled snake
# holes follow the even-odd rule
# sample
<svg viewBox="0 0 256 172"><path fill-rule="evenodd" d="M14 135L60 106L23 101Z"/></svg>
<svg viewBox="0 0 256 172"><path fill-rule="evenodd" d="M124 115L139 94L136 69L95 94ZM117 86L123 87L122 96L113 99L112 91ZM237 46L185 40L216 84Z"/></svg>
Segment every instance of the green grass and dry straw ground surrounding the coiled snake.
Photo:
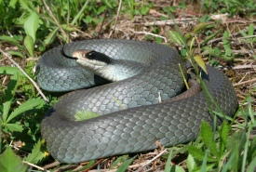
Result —
<svg viewBox="0 0 256 172"><path fill-rule="evenodd" d="M203 59L222 69L236 87L239 108L235 119L216 125L215 130L202 123L198 138L186 145L135 157L90 161L81 164L80 171L255 171L253 0L205 0L199 5L176 1L172 6L165 1L127 0L122 1L122 6L113 0L51 2L0 1L0 12L5 14L0 19L0 169L17 171L14 166L19 166L19 171L42 171L45 167L49 171L69 171L79 167L54 163L47 152L40 136L40 122L58 96L44 92L49 102L42 99L42 93L31 82L36 79L34 65L51 47L113 37L177 47L182 57ZM20 69L13 67L5 52Z"/></svg>

